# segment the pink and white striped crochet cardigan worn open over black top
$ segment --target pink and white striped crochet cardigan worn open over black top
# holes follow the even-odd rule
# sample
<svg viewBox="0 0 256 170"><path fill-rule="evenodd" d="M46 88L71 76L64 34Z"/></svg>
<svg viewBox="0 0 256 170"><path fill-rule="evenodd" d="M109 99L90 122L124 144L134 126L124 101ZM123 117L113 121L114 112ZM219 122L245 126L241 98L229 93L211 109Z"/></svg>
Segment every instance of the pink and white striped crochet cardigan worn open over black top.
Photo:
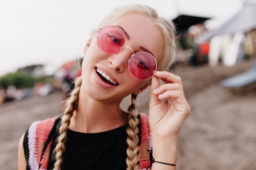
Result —
<svg viewBox="0 0 256 170"><path fill-rule="evenodd" d="M44 153L43 148L45 146L45 142L48 138L52 127L54 126L54 121L58 117L52 117L49 119L45 119L43 121L36 121L31 124L28 129L28 139L24 141L24 146L27 146L27 169L29 170L46 170L49 162L49 152L50 146L52 144L52 140L49 142L48 146ZM141 125L141 143L139 145L139 166L140 170L146 170L148 166L150 166L149 152L147 150L152 149L152 139L148 121L148 115L145 113L140 113L140 125ZM27 144L27 145L26 145ZM43 154L43 156L42 156ZM26 155L26 152L25 152ZM42 159L40 161L40 158ZM148 168L150 170L150 168Z"/></svg>

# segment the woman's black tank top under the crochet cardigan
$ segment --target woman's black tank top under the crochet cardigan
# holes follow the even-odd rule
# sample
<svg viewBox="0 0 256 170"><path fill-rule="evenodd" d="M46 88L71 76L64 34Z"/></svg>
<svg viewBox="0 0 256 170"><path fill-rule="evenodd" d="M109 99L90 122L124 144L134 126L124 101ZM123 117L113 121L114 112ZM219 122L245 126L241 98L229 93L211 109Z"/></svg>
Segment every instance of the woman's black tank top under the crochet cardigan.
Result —
<svg viewBox="0 0 256 170"><path fill-rule="evenodd" d="M139 115L138 118L140 119ZM128 124L99 133L81 133L68 129L61 170L126 170L127 126ZM54 167L55 157L52 157L52 152L56 146L58 127L54 130L47 170ZM140 144L140 130L138 135Z"/></svg>

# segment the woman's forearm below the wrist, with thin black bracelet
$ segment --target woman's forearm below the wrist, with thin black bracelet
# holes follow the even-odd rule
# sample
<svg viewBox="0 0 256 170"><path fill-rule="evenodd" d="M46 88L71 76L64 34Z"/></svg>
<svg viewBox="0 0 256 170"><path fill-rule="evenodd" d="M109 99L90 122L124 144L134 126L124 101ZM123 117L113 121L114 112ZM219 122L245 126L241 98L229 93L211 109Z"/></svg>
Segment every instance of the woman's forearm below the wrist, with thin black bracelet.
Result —
<svg viewBox="0 0 256 170"><path fill-rule="evenodd" d="M176 164L177 137L173 140L159 139L152 136L153 158L155 161ZM175 170L176 166L154 162L151 170Z"/></svg>

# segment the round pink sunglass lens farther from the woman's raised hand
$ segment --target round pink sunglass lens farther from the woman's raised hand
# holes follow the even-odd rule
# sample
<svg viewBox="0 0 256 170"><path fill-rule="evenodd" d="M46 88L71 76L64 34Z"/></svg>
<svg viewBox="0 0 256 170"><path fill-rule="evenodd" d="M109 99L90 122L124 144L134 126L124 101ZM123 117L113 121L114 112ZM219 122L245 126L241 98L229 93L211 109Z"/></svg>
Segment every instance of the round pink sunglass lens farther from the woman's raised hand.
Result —
<svg viewBox="0 0 256 170"><path fill-rule="evenodd" d="M99 48L109 54L115 54L124 48L125 35L117 26L105 26L97 35Z"/></svg>

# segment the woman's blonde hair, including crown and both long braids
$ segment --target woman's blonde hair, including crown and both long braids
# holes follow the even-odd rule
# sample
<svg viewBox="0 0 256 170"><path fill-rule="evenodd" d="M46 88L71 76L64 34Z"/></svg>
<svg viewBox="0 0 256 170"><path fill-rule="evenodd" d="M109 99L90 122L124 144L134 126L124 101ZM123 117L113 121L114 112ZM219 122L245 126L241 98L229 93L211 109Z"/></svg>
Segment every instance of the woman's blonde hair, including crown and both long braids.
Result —
<svg viewBox="0 0 256 170"><path fill-rule="evenodd" d="M111 24L112 22L117 20L117 18L128 13L138 13L138 14L146 15L149 18L151 18L155 22L155 24L159 27L164 39L164 50L163 50L161 59L158 63L157 70L158 71L168 70L169 66L174 61L174 55L175 55L175 26L171 21L158 17L158 14L154 9L141 4L119 7L114 11L112 11L105 18L103 18L99 26L103 27L108 24ZM91 33L91 36L95 36L97 31L99 30L98 29L93 30ZM58 143L56 145L56 148L54 149L54 154L56 157L56 162L54 163L54 170L60 170L61 165L63 163L62 155L63 155L63 152L65 152L67 128L70 125L70 119L73 116L73 112L77 108L81 83L82 83L82 78L78 77L75 81L75 88L72 91L70 98L67 100L65 104L65 112L64 112L64 116L62 117L61 126L59 129L60 136L58 137ZM126 142L128 144L128 148L126 150L126 153L127 153L126 164L128 166L127 170L139 170L139 136L138 136L139 119L137 118L139 113L136 108L137 106L136 97L137 96L134 95L133 93L131 94L130 96L131 104L128 107L128 112L129 112L128 126L126 128L126 132L127 132Z"/></svg>

